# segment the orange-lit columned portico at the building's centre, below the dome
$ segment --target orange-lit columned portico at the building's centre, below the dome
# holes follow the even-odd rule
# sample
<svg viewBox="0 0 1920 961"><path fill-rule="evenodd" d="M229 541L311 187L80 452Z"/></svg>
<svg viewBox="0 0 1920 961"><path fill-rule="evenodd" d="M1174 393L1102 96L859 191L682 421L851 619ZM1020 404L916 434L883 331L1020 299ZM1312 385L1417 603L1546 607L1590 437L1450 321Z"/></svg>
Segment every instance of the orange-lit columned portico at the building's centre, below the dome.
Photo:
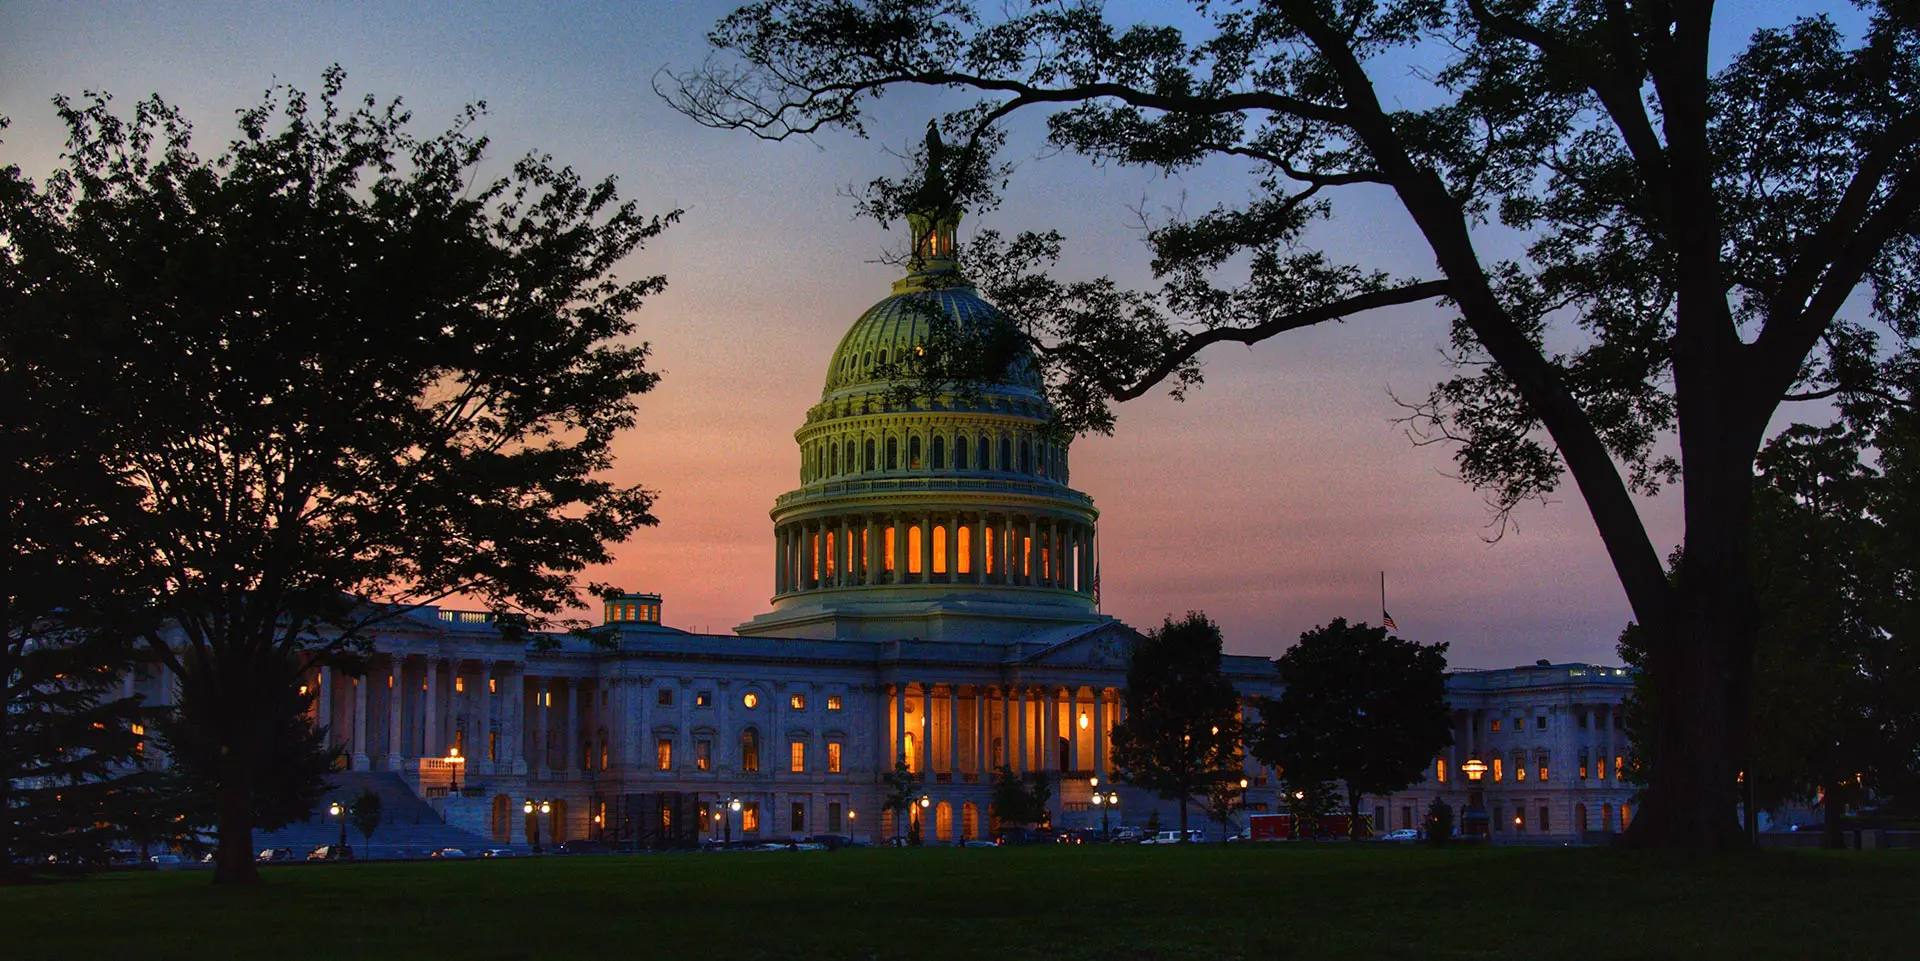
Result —
<svg viewBox="0 0 1920 961"><path fill-rule="evenodd" d="M1114 725L1121 721L1112 687L895 683L887 687L891 758L935 783L977 781L1006 765L1108 777Z"/></svg>

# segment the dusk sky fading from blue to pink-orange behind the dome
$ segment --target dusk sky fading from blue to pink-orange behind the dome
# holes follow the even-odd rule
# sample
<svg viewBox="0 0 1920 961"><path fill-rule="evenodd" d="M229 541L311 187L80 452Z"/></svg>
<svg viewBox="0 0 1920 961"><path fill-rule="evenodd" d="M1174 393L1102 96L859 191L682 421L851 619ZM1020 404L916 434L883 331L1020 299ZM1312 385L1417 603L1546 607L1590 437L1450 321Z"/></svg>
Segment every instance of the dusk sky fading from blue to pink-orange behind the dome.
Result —
<svg viewBox="0 0 1920 961"><path fill-rule="evenodd" d="M653 92L662 67L707 56L705 31L732 2L632 4L0 4L0 163L42 176L60 159L54 94L159 92L196 123L202 155L232 132L232 111L275 81L319 88L328 63L349 94L401 96L417 132L445 129L486 100L492 157L543 150L588 178L614 175L641 209L684 221L622 267L666 274L636 316L660 386L618 445L618 480L659 491L660 524L595 572L664 595L676 627L728 631L768 608L774 497L799 483L793 432L818 401L847 326L887 295L899 246L854 221L849 184L899 175L927 117L958 94L889 94L872 140L824 134L768 144L703 129ZM1791 4L1722 4L1722 56ZM1116 4L1119 13L1156 4ZM1175 10L1177 13L1177 10ZM1843 17L1851 13L1841 8ZM1386 92L1430 94L1413 77ZM1137 213L1244 201L1248 167L1213 163L1165 176L1046 155L1039 117L1014 127L1018 173L1006 203L979 219L1002 232L1062 230L1069 276L1152 282ZM1434 276L1427 247L1380 194L1354 194L1315 242L1400 276ZM1486 251L1519 249L1490 232ZM1444 447L1415 447L1394 397L1448 376L1448 318L1432 307L1380 311L1267 343L1202 355L1206 387L1185 403L1119 409L1112 437L1073 449L1073 485L1094 497L1104 610L1137 627L1204 610L1227 648L1277 656L1331 618L1379 621L1379 572L1400 633L1446 641L1459 668L1536 658L1613 662L1630 618L1578 493L1517 512L1488 543L1480 495L1450 478ZM1659 547L1680 541L1680 493L1642 501Z"/></svg>

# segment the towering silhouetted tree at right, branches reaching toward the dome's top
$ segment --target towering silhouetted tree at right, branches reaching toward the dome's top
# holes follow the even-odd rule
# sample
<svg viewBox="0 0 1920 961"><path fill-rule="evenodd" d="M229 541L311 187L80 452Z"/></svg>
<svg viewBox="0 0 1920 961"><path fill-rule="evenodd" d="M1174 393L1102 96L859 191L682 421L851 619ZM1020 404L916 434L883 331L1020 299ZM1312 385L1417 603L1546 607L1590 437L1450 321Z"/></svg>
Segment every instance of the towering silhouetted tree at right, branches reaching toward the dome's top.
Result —
<svg viewBox="0 0 1920 961"><path fill-rule="evenodd" d="M1728 52L1711 2L1196 0L1165 25L1079 2L762 0L659 86L764 138L864 132L883 92L943 86L979 96L943 121L968 150L1041 111L1050 146L1098 163L1244 171L1244 201L1152 224L1150 292L1048 276L1052 234L975 238L983 290L1073 430L1192 389L1215 343L1450 311L1461 374L1409 424L1455 443L1501 518L1571 476L1668 704L1630 840L1726 846L1749 746L1753 458L1782 403L1878 391L1920 334L1920 12L1884 0L1862 19L1849 36L1795 17ZM1382 90L1409 69L1430 84L1417 105ZM968 150L954 165L981 169ZM1315 246L1332 198L1365 190L1400 203L1430 274ZM1503 230L1521 255L1488 253ZM1680 480L1670 579L1634 497Z"/></svg>

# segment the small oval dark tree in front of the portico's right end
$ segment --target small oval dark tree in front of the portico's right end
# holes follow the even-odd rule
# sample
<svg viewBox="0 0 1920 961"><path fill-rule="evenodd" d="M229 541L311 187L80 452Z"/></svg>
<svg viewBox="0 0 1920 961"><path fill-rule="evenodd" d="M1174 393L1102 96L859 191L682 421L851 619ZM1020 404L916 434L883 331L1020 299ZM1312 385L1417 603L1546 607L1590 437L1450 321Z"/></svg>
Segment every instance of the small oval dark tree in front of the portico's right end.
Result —
<svg viewBox="0 0 1920 961"><path fill-rule="evenodd" d="M1181 840L1188 800L1238 760L1240 700L1219 648L1219 625L1200 612L1142 637L1127 664L1127 719L1112 733L1116 773L1181 802Z"/></svg>

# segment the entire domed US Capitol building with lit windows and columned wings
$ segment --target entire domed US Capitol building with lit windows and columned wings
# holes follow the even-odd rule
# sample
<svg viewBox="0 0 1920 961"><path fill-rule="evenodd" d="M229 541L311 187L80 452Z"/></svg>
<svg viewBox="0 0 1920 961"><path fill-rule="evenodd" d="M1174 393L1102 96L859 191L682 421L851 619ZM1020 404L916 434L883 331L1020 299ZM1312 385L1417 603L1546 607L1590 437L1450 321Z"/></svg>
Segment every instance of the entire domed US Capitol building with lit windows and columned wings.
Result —
<svg viewBox="0 0 1920 961"><path fill-rule="evenodd" d="M405 790L493 844L883 838L906 829L883 811L883 775L904 760L929 844L991 832L1000 765L1048 775L1054 827L1156 809L1175 827L1175 802L1108 763L1137 633L1096 610L1100 512L1071 487L1031 364L895 403L933 316L958 340L998 318L958 276L956 219L916 219L916 269L828 361L795 434L801 485L774 501L772 610L703 635L636 593L605 602L599 643L524 645L488 614L419 608L380 629L363 677L313 671L317 719L349 767L330 796ZM1227 656L1225 671L1242 698L1279 692L1267 658ZM129 685L171 700L161 677ZM1436 794L1459 809L1469 756L1490 762L1478 788L1496 838L1620 829L1622 671L1538 666L1450 687L1457 744L1423 785L1369 798L1379 831L1415 825ZM1246 773L1246 809L1283 809L1271 771L1248 760ZM1094 779L1117 806L1091 804Z"/></svg>

